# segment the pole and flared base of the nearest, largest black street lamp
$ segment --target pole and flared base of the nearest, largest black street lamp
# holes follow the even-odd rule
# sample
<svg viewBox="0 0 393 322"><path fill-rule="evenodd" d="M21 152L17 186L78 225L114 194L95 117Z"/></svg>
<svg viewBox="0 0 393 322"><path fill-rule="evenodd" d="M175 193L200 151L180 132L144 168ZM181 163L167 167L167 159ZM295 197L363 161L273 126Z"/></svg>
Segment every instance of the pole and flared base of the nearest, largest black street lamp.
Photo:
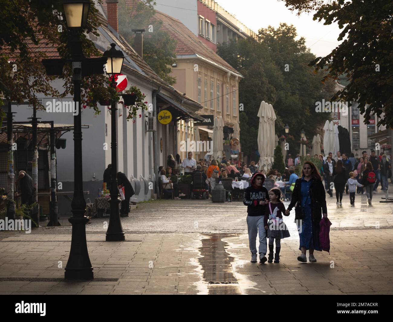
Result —
<svg viewBox="0 0 393 322"><path fill-rule="evenodd" d="M82 120L81 120L81 63L73 62L74 103L77 115L74 116L74 195L71 202L73 216L68 219L72 224L70 256L65 268L64 278L68 280L92 280L93 267L90 262L86 223L88 217L86 201L83 196L82 169Z"/></svg>

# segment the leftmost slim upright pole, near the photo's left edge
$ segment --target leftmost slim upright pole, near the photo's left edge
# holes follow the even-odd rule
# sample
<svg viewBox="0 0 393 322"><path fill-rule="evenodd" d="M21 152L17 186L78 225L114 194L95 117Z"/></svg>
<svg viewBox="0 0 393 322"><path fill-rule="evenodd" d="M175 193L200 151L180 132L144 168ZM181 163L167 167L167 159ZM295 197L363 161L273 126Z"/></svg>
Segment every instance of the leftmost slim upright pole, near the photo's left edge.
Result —
<svg viewBox="0 0 393 322"><path fill-rule="evenodd" d="M15 219L15 201L14 201L14 145L12 137L12 119L11 100L8 100L7 112L7 141L8 141L8 191L7 191L7 218Z"/></svg>

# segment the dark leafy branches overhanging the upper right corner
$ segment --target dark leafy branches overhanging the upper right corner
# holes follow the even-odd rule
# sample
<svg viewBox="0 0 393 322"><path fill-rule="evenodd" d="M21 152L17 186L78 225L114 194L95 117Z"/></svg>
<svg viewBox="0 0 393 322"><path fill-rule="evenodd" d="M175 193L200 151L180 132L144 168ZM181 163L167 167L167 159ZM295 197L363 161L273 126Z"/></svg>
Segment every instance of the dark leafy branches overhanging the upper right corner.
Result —
<svg viewBox="0 0 393 322"><path fill-rule="evenodd" d="M391 0L282 0L290 10L316 11L314 20L338 23L343 40L325 57L310 62L326 79L349 77L349 84L332 99L358 101L364 122L371 115L378 125L393 127L393 2Z"/></svg>

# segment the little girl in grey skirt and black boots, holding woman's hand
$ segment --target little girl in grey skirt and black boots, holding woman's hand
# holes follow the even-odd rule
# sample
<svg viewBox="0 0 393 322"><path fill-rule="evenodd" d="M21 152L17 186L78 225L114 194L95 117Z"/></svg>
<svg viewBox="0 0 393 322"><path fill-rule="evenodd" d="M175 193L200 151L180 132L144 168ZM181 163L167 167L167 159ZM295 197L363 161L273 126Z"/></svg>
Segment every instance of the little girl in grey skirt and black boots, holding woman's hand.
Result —
<svg viewBox="0 0 393 322"><path fill-rule="evenodd" d="M285 214L285 206L280 201L281 191L277 188L270 189L269 191L270 202L265 207L265 216L263 224L267 230L267 237L269 238L269 258L268 263L280 262L281 239L290 237L289 230L283 221L283 213ZM286 215L286 214L285 214ZM288 215L286 215L288 216ZM274 250L275 241L275 253Z"/></svg>

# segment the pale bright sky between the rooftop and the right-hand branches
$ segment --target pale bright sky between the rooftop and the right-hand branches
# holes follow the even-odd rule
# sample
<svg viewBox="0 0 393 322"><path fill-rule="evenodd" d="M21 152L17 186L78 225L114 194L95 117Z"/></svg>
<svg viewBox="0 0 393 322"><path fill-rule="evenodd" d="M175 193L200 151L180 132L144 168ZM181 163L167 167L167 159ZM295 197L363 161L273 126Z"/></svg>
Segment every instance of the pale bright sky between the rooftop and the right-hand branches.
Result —
<svg viewBox="0 0 393 322"><path fill-rule="evenodd" d="M312 20L313 14L303 13L300 17L285 7L284 1L278 0L215 0L226 11L258 32L269 25L278 27L280 22L293 24L298 35L306 39L306 46L318 56L325 56L336 48L340 29L337 24L328 26L323 22Z"/></svg>

